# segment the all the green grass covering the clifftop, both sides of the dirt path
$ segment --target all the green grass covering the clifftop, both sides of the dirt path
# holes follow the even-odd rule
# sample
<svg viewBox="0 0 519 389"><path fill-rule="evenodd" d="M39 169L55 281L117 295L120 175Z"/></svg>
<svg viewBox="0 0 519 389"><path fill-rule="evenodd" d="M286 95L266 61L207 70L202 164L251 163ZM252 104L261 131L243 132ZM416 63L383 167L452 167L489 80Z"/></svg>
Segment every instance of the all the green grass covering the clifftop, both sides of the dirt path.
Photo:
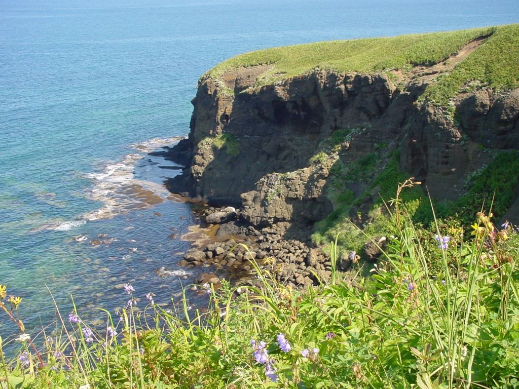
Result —
<svg viewBox="0 0 519 389"><path fill-rule="evenodd" d="M486 36L488 39L453 72L430 86L426 96L444 103L470 81L496 89L519 87L519 24L275 47L238 55L216 65L206 75L214 78L243 66L271 64L261 81L269 84L316 67L338 72L408 71L413 66L439 63L470 41Z"/></svg>

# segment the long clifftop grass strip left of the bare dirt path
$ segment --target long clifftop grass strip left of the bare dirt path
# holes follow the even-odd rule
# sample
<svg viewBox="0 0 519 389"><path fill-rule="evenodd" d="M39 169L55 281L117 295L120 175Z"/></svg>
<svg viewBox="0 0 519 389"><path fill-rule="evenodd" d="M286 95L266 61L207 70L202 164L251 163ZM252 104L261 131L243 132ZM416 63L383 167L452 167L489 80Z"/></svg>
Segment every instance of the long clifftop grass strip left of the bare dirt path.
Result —
<svg viewBox="0 0 519 389"><path fill-rule="evenodd" d="M339 72L380 72L438 63L463 45L504 27L461 30L388 38L334 40L305 45L276 47L238 55L212 68L207 75L218 77L241 66L272 64L269 75L285 78L313 68ZM511 27L517 29L516 26ZM274 81L276 77L271 80Z"/></svg>

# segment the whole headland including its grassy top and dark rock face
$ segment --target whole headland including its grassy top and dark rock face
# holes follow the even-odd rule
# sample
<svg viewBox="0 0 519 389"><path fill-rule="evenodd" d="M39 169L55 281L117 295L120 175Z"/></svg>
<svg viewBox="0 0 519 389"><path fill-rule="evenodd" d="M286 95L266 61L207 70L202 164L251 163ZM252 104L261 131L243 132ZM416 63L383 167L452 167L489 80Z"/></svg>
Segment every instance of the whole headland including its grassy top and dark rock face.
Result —
<svg viewBox="0 0 519 389"><path fill-rule="evenodd" d="M334 212L362 220L395 161L454 203L519 148L518 50L509 25L240 55L200 78L169 188L289 239ZM503 179L513 194L499 216L519 221L517 175Z"/></svg>

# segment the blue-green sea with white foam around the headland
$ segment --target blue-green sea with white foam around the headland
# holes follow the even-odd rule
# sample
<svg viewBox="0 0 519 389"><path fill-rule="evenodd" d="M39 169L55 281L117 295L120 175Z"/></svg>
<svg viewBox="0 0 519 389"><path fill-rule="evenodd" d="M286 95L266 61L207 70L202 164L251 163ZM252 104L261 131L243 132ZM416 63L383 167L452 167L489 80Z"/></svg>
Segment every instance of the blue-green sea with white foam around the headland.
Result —
<svg viewBox="0 0 519 389"><path fill-rule="evenodd" d="M198 77L218 62L517 22L516 0L3 0L0 284L32 330L55 319L49 290L64 314L73 295L94 319L125 305L126 282L142 305L150 291L168 304L208 270L176 265L198 221L162 185L174 164L146 153L188 133Z"/></svg>

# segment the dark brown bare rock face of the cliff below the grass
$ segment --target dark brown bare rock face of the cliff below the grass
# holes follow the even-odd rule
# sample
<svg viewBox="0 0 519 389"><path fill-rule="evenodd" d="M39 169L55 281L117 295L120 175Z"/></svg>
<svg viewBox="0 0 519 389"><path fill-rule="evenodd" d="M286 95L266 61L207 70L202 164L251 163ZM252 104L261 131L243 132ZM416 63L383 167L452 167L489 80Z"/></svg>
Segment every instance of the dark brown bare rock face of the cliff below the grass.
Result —
<svg viewBox="0 0 519 389"><path fill-rule="evenodd" d="M376 152L382 166L399 150L400 168L433 197L456 199L493 150L519 147L519 90L479 88L436 107L419 98L438 66L405 74L316 69L265 86L256 84L268 65L202 78L189 137L173 149L186 168L169 188L240 206L251 224L301 237L333 211L326 188L337 161L348 171ZM357 195L369 180L348 187Z"/></svg>

